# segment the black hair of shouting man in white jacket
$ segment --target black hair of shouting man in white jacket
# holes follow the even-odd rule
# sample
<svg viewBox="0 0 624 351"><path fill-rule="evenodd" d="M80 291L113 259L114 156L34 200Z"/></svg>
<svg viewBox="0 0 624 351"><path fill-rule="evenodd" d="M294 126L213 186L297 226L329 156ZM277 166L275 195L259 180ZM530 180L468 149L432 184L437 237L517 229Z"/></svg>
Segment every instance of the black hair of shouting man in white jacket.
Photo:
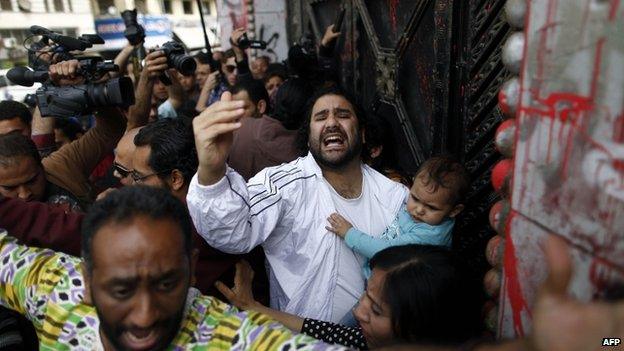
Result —
<svg viewBox="0 0 624 351"><path fill-rule="evenodd" d="M349 94L346 90L342 89L337 85L321 88L317 90L316 93L308 100L305 108L303 124L301 125L301 128L299 128L297 144L302 154L305 154L308 150L310 121L312 119L312 109L314 108L314 104L318 99L326 95L338 95L347 100L351 104L351 106L353 107L353 111L355 112L355 118L358 121L358 129L362 130L366 128L367 116L364 113L364 109L357 103L357 100L351 94Z"/></svg>

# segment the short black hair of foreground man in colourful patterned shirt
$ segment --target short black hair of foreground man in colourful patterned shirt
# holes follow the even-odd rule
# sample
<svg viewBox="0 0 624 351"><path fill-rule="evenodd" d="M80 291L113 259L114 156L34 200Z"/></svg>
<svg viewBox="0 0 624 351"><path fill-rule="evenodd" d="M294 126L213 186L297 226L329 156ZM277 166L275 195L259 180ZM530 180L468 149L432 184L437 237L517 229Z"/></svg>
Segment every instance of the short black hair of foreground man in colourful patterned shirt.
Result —
<svg viewBox="0 0 624 351"><path fill-rule="evenodd" d="M82 221L82 258L93 269L93 237L107 224L130 223L139 216L154 220L170 219L180 226L184 252L192 250L192 223L186 206L170 192L144 185L126 186L96 201Z"/></svg>

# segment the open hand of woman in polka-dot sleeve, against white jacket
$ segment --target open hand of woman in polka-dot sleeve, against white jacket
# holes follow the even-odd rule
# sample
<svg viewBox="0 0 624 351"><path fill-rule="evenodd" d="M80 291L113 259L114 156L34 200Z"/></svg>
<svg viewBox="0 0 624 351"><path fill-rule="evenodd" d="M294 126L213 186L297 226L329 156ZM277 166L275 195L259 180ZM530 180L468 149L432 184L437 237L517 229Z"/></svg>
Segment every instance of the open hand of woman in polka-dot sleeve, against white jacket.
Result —
<svg viewBox="0 0 624 351"><path fill-rule="evenodd" d="M251 283L253 282L254 271L249 263L240 260L236 264L236 275L234 276L234 287L228 288L222 282L217 281L215 287L228 301L240 310L249 310L260 305L253 297Z"/></svg>

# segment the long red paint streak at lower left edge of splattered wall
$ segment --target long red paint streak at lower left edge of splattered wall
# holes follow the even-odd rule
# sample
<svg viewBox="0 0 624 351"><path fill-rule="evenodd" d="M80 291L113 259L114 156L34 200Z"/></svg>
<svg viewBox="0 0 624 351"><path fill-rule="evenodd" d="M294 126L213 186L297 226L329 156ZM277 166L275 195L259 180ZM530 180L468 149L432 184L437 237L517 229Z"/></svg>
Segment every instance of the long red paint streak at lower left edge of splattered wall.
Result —
<svg viewBox="0 0 624 351"><path fill-rule="evenodd" d="M508 221L514 214L509 215ZM511 236L511 230L508 227L508 233L505 238L505 255L504 255L504 292L509 298L509 304L511 305L511 315L513 320L513 327L517 337L524 336L524 325L522 323L522 313L527 313L531 316L529 305L527 304L524 295L522 294L522 287L520 285L520 278L518 276L518 259L516 257L516 248L513 244L513 238Z"/></svg>

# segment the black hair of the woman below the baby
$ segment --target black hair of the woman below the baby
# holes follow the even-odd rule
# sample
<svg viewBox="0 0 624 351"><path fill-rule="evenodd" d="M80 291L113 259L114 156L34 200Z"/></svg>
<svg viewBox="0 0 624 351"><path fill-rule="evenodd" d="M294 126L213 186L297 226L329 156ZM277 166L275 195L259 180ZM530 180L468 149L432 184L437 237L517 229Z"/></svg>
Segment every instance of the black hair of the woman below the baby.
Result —
<svg viewBox="0 0 624 351"><path fill-rule="evenodd" d="M478 287L440 246L393 246L375 254L371 269L386 271L382 297L397 342L451 344L481 329Z"/></svg>

